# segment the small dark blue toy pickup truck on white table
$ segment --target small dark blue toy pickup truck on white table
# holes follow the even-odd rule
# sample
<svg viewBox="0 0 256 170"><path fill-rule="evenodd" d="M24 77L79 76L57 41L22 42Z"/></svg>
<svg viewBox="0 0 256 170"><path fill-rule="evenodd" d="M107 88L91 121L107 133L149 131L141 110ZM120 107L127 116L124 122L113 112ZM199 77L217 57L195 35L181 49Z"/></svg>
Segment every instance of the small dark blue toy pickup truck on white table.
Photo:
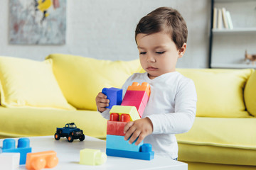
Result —
<svg viewBox="0 0 256 170"><path fill-rule="evenodd" d="M67 123L64 128L57 128L54 138L55 140L60 140L60 137L67 137L68 142L73 142L73 140L85 140L85 135L82 130L76 127L75 123Z"/></svg>

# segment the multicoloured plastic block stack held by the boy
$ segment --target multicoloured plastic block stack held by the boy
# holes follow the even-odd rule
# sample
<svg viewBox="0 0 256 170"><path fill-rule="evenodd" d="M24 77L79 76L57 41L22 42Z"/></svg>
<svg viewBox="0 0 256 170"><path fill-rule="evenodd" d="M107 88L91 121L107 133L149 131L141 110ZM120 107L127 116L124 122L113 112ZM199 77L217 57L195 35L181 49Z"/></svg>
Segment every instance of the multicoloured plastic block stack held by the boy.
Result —
<svg viewBox="0 0 256 170"><path fill-rule="evenodd" d="M132 144L129 144L128 140L124 140L124 126L127 122L142 118L144 108L149 100L150 86L147 83L142 83L142 85L140 85L139 83L134 82L132 86L128 87L121 106L118 106L116 101L119 100L116 98L120 98L120 94L122 94L120 91L122 91L122 89L115 89L114 93L106 88L102 90L102 93L107 95L108 98L114 98L112 103L110 100L111 110L110 120L107 121L106 153L108 156L114 157L144 160L154 159L154 152L151 151L150 144L144 144L142 141L139 145L135 145L137 140ZM113 103L117 105L114 105Z"/></svg>

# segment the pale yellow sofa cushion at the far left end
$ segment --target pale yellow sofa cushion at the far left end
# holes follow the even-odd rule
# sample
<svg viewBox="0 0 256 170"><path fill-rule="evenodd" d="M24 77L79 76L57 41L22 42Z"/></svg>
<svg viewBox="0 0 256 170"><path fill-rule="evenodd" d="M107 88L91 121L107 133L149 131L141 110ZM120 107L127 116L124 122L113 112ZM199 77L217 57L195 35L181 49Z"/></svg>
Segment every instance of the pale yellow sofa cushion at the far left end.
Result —
<svg viewBox="0 0 256 170"><path fill-rule="evenodd" d="M51 60L0 57L1 106L74 110L54 77Z"/></svg>

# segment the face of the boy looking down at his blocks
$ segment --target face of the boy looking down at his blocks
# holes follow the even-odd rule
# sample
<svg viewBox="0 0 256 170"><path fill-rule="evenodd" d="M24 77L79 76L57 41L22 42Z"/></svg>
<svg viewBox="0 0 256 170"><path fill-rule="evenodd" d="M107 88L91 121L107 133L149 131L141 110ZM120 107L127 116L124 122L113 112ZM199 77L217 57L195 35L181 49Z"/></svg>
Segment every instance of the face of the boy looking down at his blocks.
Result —
<svg viewBox="0 0 256 170"><path fill-rule="evenodd" d="M186 51L186 43L178 50L170 35L164 32L150 35L139 33L136 40L139 60L142 68L149 74L149 79L175 72L178 58Z"/></svg>

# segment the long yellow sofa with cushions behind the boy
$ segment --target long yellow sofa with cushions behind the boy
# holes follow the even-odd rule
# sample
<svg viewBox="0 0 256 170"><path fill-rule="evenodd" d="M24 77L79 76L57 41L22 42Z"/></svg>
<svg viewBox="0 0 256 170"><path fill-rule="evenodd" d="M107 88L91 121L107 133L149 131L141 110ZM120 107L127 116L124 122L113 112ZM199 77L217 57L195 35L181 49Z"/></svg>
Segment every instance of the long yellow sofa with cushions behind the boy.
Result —
<svg viewBox="0 0 256 170"><path fill-rule="evenodd" d="M193 79L198 94L193 127L176 135L178 160L189 170L256 169L256 72L177 70ZM134 72L142 72L139 60L0 57L0 137L53 135L55 128L75 122L85 135L104 139L106 120L95 111L95 96L104 87L120 88Z"/></svg>

